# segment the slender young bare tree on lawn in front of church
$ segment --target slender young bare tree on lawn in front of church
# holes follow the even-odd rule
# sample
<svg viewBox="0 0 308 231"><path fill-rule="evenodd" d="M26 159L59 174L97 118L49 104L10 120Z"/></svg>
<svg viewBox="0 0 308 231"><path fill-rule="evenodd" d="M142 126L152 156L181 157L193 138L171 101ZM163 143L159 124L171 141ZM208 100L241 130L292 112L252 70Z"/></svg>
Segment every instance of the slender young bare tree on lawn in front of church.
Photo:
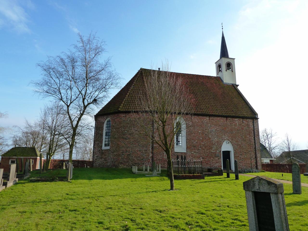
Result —
<svg viewBox="0 0 308 231"><path fill-rule="evenodd" d="M168 62L161 71L151 71L145 86L136 102L140 109L133 115L143 134L166 153L170 190L174 190L171 150L176 134L184 128L183 116L192 113L191 100L182 79L169 71Z"/></svg>

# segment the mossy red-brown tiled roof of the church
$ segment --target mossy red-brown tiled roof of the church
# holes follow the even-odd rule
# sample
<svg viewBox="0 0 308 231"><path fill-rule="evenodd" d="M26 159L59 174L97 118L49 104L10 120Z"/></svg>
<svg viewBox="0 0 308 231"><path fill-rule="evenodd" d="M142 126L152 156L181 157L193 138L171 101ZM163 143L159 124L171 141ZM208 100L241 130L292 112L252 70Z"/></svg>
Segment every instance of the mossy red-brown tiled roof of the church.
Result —
<svg viewBox="0 0 308 231"><path fill-rule="evenodd" d="M140 68L136 75L96 114L138 111L136 99L145 94L145 79L150 69ZM201 115L224 115L257 117L257 113L241 94L235 84L225 84L220 77L172 72L181 78L193 99L193 113Z"/></svg>

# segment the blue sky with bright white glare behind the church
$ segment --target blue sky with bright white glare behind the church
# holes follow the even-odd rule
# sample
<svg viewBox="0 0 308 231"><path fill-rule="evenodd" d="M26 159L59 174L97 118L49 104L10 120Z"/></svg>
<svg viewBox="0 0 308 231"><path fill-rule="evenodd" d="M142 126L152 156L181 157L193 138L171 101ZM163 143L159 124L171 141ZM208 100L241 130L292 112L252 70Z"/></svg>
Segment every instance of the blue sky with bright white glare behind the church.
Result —
<svg viewBox="0 0 308 231"><path fill-rule="evenodd" d="M0 0L0 111L8 113L0 125L36 119L45 103L29 85L40 78L36 63L67 51L78 32L106 41L124 85L165 58L172 71L215 75L223 22L237 83L260 129L288 132L305 149L307 10L306 1Z"/></svg>

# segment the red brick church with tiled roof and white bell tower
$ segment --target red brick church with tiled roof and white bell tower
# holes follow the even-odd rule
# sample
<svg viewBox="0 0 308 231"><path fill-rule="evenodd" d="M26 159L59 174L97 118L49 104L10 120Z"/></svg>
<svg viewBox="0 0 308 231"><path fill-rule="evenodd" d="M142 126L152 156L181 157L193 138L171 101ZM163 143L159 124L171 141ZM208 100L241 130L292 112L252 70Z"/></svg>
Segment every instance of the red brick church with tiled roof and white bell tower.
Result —
<svg viewBox="0 0 308 231"><path fill-rule="evenodd" d="M229 57L223 32L215 70L216 76L172 73L182 79L194 101L193 116L183 117L181 142L175 142L172 158L202 158L203 166L222 169L229 159L232 170L234 160L239 169L261 169L258 114L238 89L235 59ZM167 167L164 151L134 132L138 125L132 111L150 76L150 69L140 68L95 115L94 167L130 168L152 165L153 160Z"/></svg>

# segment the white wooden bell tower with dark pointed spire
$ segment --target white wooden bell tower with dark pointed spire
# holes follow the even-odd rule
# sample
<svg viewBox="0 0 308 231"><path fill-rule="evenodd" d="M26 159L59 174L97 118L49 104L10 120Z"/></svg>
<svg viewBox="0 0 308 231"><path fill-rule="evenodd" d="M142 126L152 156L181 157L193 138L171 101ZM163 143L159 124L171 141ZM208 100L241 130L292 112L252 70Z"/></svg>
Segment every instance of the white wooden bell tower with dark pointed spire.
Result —
<svg viewBox="0 0 308 231"><path fill-rule="evenodd" d="M223 29L222 23L221 23L221 29ZM229 58L224 31L222 30L220 59L218 59L218 61L215 64L216 64L216 76L219 76L224 83L236 84L234 60L235 59L233 58Z"/></svg>

